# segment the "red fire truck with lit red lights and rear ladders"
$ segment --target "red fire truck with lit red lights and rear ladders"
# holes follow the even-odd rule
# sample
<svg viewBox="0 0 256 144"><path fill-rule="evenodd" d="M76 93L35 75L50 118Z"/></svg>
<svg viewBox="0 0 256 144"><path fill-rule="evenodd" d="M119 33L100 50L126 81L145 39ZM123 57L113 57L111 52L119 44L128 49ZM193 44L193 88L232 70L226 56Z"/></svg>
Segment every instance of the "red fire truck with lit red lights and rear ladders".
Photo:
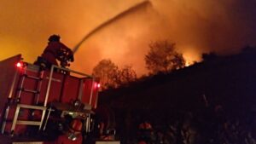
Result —
<svg viewBox="0 0 256 144"><path fill-rule="evenodd" d="M0 143L53 143L74 119L83 135L91 132L95 78L61 66L44 70L21 55L0 61L0 69Z"/></svg>

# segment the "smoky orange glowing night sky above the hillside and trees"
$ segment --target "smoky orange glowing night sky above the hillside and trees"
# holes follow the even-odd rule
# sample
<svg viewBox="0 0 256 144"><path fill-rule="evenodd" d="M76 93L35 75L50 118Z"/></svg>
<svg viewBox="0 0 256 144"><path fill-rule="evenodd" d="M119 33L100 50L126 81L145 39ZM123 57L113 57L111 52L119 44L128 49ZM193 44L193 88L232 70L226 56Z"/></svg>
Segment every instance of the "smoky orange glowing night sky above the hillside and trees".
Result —
<svg viewBox="0 0 256 144"><path fill-rule="evenodd" d="M33 62L51 34L73 47L114 15L143 0L0 0L0 60L22 54ZM72 68L90 73L99 60L131 65L146 73L148 43L168 39L177 43L186 60L201 60L201 53L238 52L256 43L255 0L151 0L84 41Z"/></svg>

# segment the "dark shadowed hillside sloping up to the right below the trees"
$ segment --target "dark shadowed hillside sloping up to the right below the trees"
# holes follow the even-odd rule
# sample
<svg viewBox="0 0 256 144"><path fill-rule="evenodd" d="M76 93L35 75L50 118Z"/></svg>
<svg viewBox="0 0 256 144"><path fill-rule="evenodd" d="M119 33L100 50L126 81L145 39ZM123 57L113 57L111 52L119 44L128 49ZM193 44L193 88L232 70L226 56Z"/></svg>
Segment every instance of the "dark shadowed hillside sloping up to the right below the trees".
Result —
<svg viewBox="0 0 256 144"><path fill-rule="evenodd" d="M203 55L203 62L144 78L99 95L121 143L137 143L148 120L152 141L166 144L256 143L256 50Z"/></svg>

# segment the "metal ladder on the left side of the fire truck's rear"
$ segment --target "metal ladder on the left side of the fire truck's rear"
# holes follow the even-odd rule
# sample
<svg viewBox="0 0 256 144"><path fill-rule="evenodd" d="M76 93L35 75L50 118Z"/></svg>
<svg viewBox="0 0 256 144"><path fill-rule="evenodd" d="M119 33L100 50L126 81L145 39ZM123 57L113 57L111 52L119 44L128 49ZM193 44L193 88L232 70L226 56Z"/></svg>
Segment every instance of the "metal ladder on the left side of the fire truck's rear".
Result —
<svg viewBox="0 0 256 144"><path fill-rule="evenodd" d="M27 65L30 65L30 64L27 64ZM27 71L27 66L24 67L24 72L20 76L20 78L21 78L20 79L20 84L18 86L19 88L17 89L18 90L18 94L17 94L18 104L16 106L15 117L13 119L13 124L11 126L11 133L14 133L15 126L17 124L38 125L39 126L38 130L41 130L42 125L44 123L44 116L45 116L45 112L47 110L47 107L46 106L38 106L38 101L39 101L39 96L40 96L40 89L41 89L42 81L43 81L43 77L44 77L44 71L38 69L38 76L28 75L26 73L26 71ZM35 85L35 89L26 89L24 87L25 80L27 78L32 79L32 80L35 81L35 84L36 84ZM20 104L21 93L32 93L34 95L33 96L34 105ZM19 120L20 108L42 111L40 121L35 121L35 120Z"/></svg>

